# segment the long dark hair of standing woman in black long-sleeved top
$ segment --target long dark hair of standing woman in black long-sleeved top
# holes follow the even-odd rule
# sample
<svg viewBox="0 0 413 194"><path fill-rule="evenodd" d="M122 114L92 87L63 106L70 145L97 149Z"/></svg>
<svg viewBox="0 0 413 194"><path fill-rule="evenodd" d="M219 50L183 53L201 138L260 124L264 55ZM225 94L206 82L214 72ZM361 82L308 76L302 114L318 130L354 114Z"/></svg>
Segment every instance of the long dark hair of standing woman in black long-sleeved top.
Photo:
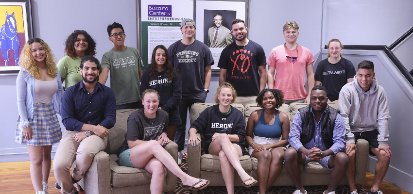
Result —
<svg viewBox="0 0 413 194"><path fill-rule="evenodd" d="M157 49L162 49L165 51L165 57L166 57L166 61L165 64L163 65L164 68L164 72L165 72L165 77L168 81L172 81L175 79L176 76L179 76L179 72L178 69L176 69L175 67L173 67L172 62L170 60L170 56L168 53L168 49L166 49L165 46L163 45L158 45L155 47L154 51L152 52L152 61L151 64L149 64L149 67L146 69L148 71L149 76L151 77L151 81L154 80L154 78L156 78L156 74L158 73L158 71L156 70L156 61L155 61L155 55L156 55L156 50Z"/></svg>

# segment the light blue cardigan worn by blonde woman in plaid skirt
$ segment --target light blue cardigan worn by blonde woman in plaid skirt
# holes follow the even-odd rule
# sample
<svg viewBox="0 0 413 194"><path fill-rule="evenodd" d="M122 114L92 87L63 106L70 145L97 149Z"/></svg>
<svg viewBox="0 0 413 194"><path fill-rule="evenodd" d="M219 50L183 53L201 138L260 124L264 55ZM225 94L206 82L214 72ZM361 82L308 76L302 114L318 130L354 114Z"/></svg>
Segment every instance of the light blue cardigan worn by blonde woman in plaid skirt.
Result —
<svg viewBox="0 0 413 194"><path fill-rule="evenodd" d="M63 86L60 79L59 71L56 69L56 80L59 85L57 92L53 95L52 103L54 112L60 114ZM20 125L18 128L23 129L29 126L29 120L33 118L33 94L34 94L34 77L28 73L25 68L22 68L17 75L17 109L20 115Z"/></svg>

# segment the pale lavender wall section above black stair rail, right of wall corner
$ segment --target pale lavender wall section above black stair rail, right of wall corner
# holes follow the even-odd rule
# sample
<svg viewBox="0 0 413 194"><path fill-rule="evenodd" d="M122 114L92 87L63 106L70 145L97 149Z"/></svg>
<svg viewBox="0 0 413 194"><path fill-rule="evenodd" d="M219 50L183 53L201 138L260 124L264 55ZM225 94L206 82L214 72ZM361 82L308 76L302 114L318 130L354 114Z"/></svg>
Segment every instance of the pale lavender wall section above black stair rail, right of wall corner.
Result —
<svg viewBox="0 0 413 194"><path fill-rule="evenodd" d="M322 44L387 45L412 27L412 0L324 0Z"/></svg>

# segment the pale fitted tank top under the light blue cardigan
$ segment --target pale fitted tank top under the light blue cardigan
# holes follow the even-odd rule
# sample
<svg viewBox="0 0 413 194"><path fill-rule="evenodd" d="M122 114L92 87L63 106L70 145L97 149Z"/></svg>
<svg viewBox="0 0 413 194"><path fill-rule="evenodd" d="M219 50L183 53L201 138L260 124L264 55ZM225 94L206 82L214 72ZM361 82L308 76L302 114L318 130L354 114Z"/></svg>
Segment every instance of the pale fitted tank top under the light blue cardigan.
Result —
<svg viewBox="0 0 413 194"><path fill-rule="evenodd" d="M34 103L49 103L52 102L54 93L57 92L59 85L54 78L52 81L40 81L34 79Z"/></svg>

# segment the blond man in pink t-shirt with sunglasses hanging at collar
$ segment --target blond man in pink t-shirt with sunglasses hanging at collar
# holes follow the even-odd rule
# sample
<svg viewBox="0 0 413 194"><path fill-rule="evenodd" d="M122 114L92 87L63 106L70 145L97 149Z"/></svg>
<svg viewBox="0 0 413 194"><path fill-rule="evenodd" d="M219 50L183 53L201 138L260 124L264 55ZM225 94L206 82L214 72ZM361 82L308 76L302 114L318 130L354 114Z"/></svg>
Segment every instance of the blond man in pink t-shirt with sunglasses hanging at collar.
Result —
<svg viewBox="0 0 413 194"><path fill-rule="evenodd" d="M267 64L268 88L284 92L284 103L310 102L306 90L306 73L309 91L314 87L314 58L310 49L297 44L298 25L288 21L283 27L285 43L271 50ZM275 69L277 70L275 74ZM274 79L275 74L275 79Z"/></svg>

